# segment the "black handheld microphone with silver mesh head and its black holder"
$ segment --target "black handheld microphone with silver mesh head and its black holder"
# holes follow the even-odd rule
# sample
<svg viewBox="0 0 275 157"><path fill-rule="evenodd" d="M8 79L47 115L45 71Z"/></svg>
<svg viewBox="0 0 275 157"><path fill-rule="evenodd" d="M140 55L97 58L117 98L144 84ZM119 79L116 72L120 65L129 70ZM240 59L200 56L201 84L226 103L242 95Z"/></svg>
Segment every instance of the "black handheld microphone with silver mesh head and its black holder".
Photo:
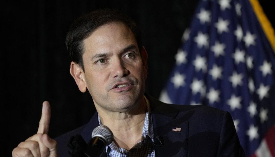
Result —
<svg viewBox="0 0 275 157"><path fill-rule="evenodd" d="M99 157L104 148L113 142L113 133L109 127L99 125L92 132L92 139L87 144L81 135L72 136L68 142L69 152L73 157Z"/></svg>

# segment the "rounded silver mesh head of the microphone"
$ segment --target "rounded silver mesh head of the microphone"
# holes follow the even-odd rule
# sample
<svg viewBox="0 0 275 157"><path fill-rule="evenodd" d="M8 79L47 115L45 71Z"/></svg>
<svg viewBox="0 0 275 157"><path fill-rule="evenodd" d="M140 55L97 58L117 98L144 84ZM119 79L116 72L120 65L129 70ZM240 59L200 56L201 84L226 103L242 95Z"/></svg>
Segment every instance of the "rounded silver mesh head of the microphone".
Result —
<svg viewBox="0 0 275 157"><path fill-rule="evenodd" d="M105 125L99 125L92 132L92 138L101 137L106 142L106 146L113 142L114 135L109 129L109 127Z"/></svg>

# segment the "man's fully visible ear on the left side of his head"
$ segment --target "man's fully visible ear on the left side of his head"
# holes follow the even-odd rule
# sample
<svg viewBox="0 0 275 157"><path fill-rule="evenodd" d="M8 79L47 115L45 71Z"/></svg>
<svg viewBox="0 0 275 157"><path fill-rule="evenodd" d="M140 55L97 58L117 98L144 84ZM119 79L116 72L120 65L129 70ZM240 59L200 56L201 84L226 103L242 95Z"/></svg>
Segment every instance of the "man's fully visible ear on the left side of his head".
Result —
<svg viewBox="0 0 275 157"><path fill-rule="evenodd" d="M80 65L76 64L75 62L71 62L70 66L70 74L74 78L75 83L78 86L78 89L81 92L85 92L87 89L85 74Z"/></svg>

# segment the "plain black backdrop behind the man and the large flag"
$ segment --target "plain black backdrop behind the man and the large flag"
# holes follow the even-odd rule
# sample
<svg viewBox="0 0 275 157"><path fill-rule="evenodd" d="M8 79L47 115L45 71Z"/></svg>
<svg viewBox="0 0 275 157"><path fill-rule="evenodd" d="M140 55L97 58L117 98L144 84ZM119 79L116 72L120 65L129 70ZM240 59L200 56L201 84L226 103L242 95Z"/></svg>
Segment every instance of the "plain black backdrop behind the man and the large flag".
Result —
<svg viewBox="0 0 275 157"><path fill-rule="evenodd" d="M95 112L89 93L70 76L65 36L72 21L100 8L119 9L143 32L149 54L146 91L159 97L174 65L174 55L198 0L175 1L5 1L1 4L0 156L11 156L19 142L37 132L42 102L52 108L49 135L85 124ZM260 1L274 27L274 1Z"/></svg>

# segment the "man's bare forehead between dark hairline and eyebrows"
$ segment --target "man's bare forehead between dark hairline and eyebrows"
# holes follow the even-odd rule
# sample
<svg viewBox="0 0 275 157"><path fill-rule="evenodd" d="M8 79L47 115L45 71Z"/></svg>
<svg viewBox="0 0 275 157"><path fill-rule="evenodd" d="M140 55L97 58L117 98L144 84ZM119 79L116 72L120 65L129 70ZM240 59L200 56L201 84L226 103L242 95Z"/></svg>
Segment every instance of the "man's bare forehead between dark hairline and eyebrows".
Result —
<svg viewBox="0 0 275 157"><path fill-rule="evenodd" d="M83 43L84 53L114 52L130 44L137 46L133 32L121 22L112 22L100 26Z"/></svg>

